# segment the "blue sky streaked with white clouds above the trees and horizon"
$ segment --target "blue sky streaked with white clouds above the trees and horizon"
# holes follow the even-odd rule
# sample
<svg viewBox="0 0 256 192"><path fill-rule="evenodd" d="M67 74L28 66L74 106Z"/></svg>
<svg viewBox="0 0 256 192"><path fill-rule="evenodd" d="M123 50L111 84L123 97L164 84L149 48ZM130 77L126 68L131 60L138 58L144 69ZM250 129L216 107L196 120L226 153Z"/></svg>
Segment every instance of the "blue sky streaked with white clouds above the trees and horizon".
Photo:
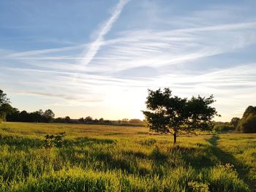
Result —
<svg viewBox="0 0 256 192"><path fill-rule="evenodd" d="M147 90L256 105L256 1L0 1L0 89L56 117L143 119Z"/></svg>

